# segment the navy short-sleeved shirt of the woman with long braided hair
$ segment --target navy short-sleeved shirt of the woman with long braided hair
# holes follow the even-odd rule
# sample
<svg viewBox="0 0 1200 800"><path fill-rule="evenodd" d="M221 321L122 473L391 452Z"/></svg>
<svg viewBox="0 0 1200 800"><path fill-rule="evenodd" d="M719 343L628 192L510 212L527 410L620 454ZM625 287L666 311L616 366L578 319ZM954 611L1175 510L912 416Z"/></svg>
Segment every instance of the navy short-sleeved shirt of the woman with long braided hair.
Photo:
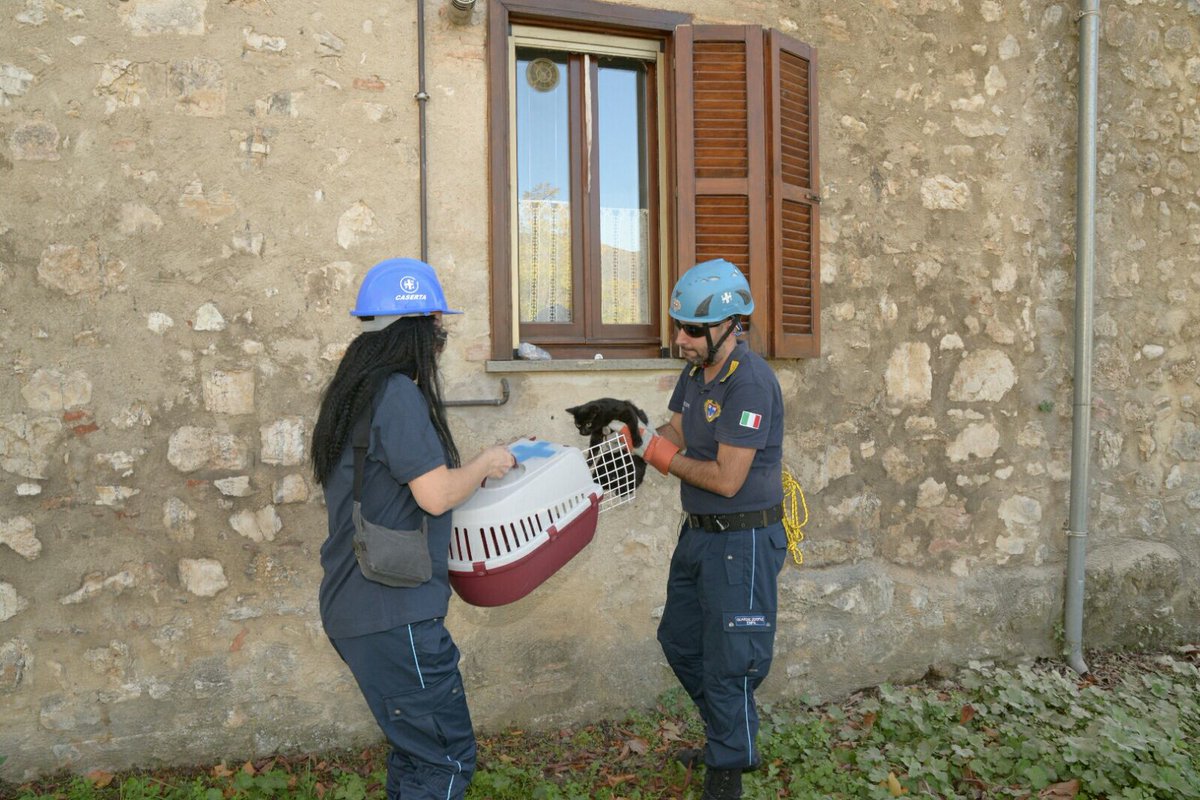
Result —
<svg viewBox="0 0 1200 800"><path fill-rule="evenodd" d="M397 625L445 616L450 603L446 558L450 512L428 517L418 506L408 482L446 463L425 397L407 375L394 374L376 397L371 438L362 475L362 517L392 529L420 528L428 518L433 577L420 587L385 587L362 577L354 559L354 447L347 441L342 459L325 482L329 539L320 547L320 619L330 638L364 636Z"/></svg>

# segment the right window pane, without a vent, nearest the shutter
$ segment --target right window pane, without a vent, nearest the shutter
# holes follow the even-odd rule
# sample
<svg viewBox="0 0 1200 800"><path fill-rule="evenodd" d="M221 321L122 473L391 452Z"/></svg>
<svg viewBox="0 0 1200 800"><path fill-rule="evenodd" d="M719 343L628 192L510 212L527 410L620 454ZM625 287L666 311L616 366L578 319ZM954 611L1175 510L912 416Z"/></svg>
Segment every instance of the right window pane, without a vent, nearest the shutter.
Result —
<svg viewBox="0 0 1200 800"><path fill-rule="evenodd" d="M600 307L606 325L650 321L646 78L642 61L599 61Z"/></svg>

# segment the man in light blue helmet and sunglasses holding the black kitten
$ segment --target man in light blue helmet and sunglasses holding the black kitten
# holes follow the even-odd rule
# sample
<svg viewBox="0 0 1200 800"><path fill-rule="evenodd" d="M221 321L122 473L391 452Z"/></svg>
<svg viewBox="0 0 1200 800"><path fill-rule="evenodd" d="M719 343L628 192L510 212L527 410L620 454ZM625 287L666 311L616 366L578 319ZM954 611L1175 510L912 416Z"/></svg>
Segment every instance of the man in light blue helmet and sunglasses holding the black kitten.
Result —
<svg viewBox="0 0 1200 800"><path fill-rule="evenodd" d="M631 447L680 481L685 512L671 558L659 643L704 721L703 800L737 800L760 764L755 688L770 669L782 512L784 401L767 362L738 336L754 311L745 276L725 259L688 270L671 293L688 365L667 408Z"/></svg>

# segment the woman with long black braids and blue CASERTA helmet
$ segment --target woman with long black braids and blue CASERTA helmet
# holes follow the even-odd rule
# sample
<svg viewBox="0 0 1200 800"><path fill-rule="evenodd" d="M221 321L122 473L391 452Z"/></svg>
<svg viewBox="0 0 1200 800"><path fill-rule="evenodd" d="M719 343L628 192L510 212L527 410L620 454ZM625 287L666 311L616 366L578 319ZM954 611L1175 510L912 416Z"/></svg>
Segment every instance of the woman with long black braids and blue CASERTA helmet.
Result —
<svg viewBox="0 0 1200 800"><path fill-rule="evenodd" d="M442 315L460 312L446 307L433 267L380 261L350 313L362 332L326 386L312 432L313 474L329 513L320 618L391 744L389 800L461 799L475 770L475 735L458 649L444 624L450 510L515 461L493 446L461 463L438 377ZM355 428L367 420L355 509ZM365 524L407 531L427 571L400 585L378 582L355 553Z"/></svg>

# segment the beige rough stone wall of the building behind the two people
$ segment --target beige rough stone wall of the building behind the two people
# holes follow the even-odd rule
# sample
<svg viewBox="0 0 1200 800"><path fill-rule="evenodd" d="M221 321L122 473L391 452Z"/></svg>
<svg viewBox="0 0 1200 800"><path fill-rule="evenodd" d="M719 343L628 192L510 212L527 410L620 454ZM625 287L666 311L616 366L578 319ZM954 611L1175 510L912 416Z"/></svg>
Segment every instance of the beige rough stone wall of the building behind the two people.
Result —
<svg viewBox="0 0 1200 800"><path fill-rule="evenodd" d="M319 391L374 261L416 254L415 4L0 11L0 777L373 740L320 631ZM427 2L430 260L452 398L490 351L485 25ZM1200 2L1103 4L1088 646L1200 633ZM1061 648L1075 7L661 0L818 48L823 353L774 366L811 521L768 696ZM582 444L673 372L509 373L464 453ZM530 597L456 603L481 728L673 685L673 479Z"/></svg>

